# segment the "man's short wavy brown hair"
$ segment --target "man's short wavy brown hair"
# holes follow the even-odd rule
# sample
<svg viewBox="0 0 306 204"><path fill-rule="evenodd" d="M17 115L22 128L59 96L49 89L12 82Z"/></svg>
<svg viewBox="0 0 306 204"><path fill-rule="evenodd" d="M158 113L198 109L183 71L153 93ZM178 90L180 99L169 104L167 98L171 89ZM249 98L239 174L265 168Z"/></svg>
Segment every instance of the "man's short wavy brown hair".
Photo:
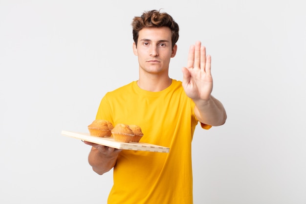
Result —
<svg viewBox="0 0 306 204"><path fill-rule="evenodd" d="M172 32L172 47L174 47L178 40L178 24L166 12L160 12L157 10L145 11L140 17L135 16L131 25L133 28L133 40L136 46L139 31L144 27L169 27Z"/></svg>

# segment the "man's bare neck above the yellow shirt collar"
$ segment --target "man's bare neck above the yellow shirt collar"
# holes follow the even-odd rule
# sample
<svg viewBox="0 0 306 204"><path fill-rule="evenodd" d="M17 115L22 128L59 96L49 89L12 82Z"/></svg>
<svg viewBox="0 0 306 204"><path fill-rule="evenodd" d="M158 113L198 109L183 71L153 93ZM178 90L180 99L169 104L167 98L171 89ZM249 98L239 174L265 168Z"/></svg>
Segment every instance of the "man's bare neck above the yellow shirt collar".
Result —
<svg viewBox="0 0 306 204"><path fill-rule="evenodd" d="M137 85L140 89L146 91L163 91L168 88L172 83L172 79L167 76L151 75L150 77L139 77Z"/></svg>

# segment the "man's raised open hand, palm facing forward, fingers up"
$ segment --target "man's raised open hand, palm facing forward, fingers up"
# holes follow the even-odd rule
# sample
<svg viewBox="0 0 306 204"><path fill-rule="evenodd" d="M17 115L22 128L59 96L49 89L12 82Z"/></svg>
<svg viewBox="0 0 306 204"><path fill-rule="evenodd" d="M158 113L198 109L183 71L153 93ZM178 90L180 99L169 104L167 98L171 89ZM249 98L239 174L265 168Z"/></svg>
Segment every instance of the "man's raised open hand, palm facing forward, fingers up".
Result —
<svg viewBox="0 0 306 204"><path fill-rule="evenodd" d="M194 101L208 100L213 90L211 56L206 56L206 48L201 42L190 46L187 67L182 68L182 72L182 86L187 96Z"/></svg>

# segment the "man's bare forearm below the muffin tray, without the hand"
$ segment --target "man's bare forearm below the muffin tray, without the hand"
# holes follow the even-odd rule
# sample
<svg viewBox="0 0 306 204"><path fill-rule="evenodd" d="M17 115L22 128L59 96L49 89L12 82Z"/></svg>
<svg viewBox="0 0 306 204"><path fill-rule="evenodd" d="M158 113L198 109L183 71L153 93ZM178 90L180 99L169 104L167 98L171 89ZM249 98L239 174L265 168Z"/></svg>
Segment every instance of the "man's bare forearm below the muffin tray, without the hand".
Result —
<svg viewBox="0 0 306 204"><path fill-rule="evenodd" d="M88 162L94 172L102 175L114 167L117 157L118 155L107 157L98 149L92 148L88 156Z"/></svg>

